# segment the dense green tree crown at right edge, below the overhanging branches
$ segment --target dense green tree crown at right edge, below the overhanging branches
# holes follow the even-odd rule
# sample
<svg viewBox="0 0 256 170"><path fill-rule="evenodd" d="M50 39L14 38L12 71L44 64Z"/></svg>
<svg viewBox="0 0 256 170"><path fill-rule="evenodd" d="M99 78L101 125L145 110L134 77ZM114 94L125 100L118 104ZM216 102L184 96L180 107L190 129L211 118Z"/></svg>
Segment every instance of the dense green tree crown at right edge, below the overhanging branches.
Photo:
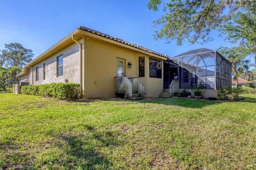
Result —
<svg viewBox="0 0 256 170"><path fill-rule="evenodd" d="M227 34L226 40L245 47L245 55L254 54L256 66L256 3L245 6L243 12L234 14L231 21L220 30Z"/></svg>

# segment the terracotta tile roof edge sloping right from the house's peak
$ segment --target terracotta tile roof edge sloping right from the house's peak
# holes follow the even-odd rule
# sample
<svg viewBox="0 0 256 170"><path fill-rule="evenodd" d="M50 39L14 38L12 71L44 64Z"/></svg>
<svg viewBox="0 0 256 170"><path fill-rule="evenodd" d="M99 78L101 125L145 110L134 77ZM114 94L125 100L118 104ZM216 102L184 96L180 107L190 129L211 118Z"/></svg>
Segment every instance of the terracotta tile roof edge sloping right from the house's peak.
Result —
<svg viewBox="0 0 256 170"><path fill-rule="evenodd" d="M108 34L104 34L104 33L102 33L102 32L98 32L98 31L96 31L96 30L92 30L92 29L87 28L87 27L84 27L84 26L79 26L78 29L84 30L84 31L86 31L86 32L90 32L90 33L92 33L92 34L96 34L96 35L98 35L98 36L102 36L102 37L108 38L108 39L110 39L110 40L114 40L114 41L116 41L116 42L120 42L120 43L123 43L123 44L126 44L126 45L130 45L130 46L132 46L132 47L141 49L141 50L143 50L143 51L147 51L147 52L152 53L152 54L159 55L159 56L161 56L161 57L166 57L166 58L168 57L166 54L164 55L164 54L158 53L158 52L156 52L156 51L152 51L152 50L147 49L147 48L145 48L145 47L142 47L142 46L140 46L140 45L135 45L135 44L133 44L133 43L126 42L126 41L124 41L124 40L122 40L122 39L109 36Z"/></svg>

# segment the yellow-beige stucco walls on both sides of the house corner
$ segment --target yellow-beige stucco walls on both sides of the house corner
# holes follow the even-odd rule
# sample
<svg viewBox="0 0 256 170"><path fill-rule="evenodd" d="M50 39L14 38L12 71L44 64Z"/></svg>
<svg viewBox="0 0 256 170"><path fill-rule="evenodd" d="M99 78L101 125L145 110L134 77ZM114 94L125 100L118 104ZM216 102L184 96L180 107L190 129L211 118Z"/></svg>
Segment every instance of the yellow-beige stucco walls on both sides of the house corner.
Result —
<svg viewBox="0 0 256 170"><path fill-rule="evenodd" d="M145 53L127 49L124 45L114 45L94 38L82 38L82 90L84 97L116 97L115 79L117 76L117 60L124 59L125 75L127 77L139 76L139 57L145 57L145 77L140 77L144 83L144 93L147 97L159 97L163 90L163 78L149 77L149 58ZM68 82L80 83L80 45L72 43L60 51L56 51L44 61L30 65L28 74L20 77L20 81L28 80L30 84ZM57 77L57 57L63 55L63 76ZM160 60L159 58L156 58ZM132 63L129 68L128 62ZM46 73L43 79L43 64ZM163 63L162 63L163 66ZM36 67L39 67L39 80L36 81ZM163 70L162 70L163 74ZM33 78L32 78L33 76ZM162 75L163 77L163 75ZM33 83L32 83L33 80Z"/></svg>

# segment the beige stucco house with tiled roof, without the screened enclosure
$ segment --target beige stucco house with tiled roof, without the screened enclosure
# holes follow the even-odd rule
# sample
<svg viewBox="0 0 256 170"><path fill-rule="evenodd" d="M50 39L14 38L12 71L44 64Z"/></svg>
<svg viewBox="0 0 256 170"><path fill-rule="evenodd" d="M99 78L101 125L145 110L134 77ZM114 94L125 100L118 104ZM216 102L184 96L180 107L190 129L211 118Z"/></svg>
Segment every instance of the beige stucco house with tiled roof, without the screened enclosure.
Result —
<svg viewBox="0 0 256 170"><path fill-rule="evenodd" d="M116 97L116 82L125 80L115 77L139 77L141 95L159 97L166 59L166 55L79 26L28 63L17 77L30 85L80 83L84 97Z"/></svg>

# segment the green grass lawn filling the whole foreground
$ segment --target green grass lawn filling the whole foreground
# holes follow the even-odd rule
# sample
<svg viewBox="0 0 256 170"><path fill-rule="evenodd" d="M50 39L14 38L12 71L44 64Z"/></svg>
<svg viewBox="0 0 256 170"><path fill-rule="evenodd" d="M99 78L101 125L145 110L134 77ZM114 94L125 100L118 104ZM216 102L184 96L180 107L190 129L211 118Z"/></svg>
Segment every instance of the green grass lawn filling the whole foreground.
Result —
<svg viewBox="0 0 256 170"><path fill-rule="evenodd" d="M256 169L256 96L60 102L0 94L0 169Z"/></svg>

